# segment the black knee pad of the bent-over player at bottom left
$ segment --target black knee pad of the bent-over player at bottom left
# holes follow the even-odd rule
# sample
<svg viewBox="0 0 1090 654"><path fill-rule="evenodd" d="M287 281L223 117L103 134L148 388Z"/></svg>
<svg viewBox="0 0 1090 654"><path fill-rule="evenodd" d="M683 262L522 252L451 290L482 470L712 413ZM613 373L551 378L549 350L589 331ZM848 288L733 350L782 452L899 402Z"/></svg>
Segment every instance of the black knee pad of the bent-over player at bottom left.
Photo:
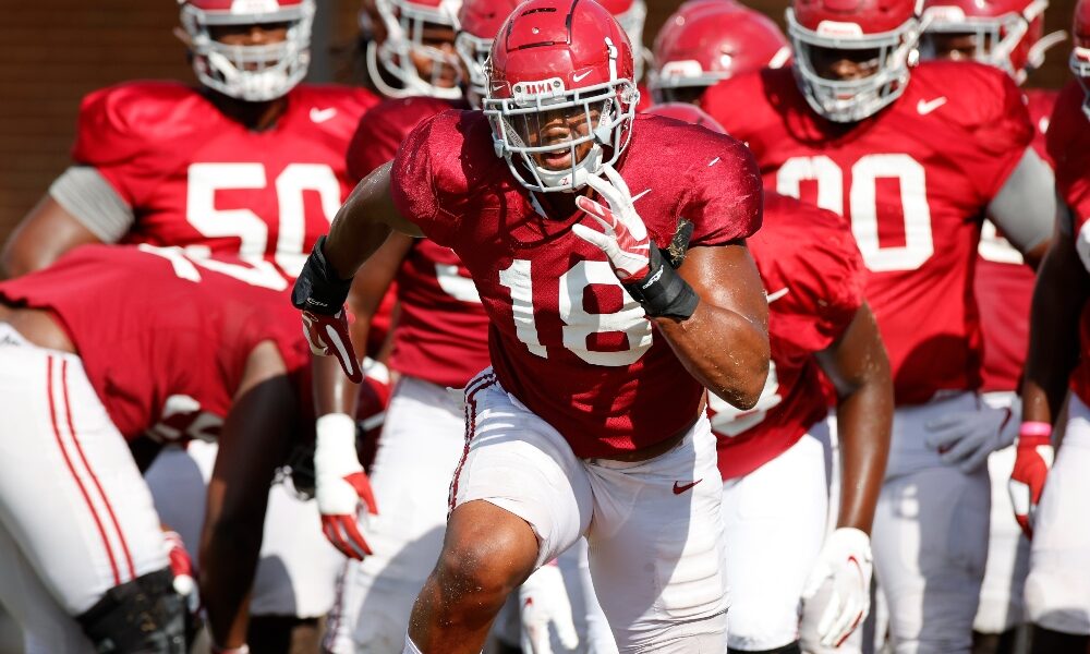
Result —
<svg viewBox="0 0 1090 654"><path fill-rule="evenodd" d="M162 569L113 586L76 620L98 654L185 654L185 614Z"/></svg>

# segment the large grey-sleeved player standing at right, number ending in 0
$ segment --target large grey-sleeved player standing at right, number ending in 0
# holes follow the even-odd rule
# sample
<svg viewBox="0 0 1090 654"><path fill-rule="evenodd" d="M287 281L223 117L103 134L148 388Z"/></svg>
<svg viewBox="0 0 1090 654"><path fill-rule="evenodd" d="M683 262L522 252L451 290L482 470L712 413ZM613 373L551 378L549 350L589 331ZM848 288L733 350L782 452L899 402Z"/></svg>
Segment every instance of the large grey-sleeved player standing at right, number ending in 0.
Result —
<svg viewBox="0 0 1090 654"><path fill-rule="evenodd" d="M1014 81L973 62L912 68L919 12L911 0L799 0L791 66L720 82L702 105L747 142L770 187L851 225L897 402L874 565L897 651L952 653L971 646L984 463L1008 438L1009 413L977 395L979 218L1033 263L1055 205Z"/></svg>

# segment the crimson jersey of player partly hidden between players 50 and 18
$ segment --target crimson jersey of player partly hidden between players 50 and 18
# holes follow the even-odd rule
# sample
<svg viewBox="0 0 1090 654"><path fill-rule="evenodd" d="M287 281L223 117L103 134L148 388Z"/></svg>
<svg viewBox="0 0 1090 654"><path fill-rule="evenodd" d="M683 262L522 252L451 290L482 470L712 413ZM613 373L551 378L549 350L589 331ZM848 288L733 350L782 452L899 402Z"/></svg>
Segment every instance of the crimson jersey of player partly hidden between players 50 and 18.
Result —
<svg viewBox="0 0 1090 654"><path fill-rule="evenodd" d="M390 99L363 117L348 150L348 170L363 179L392 159L421 122L468 108L429 97ZM458 255L417 239L395 278L401 306L389 366L439 386L461 388L488 366L488 316Z"/></svg>

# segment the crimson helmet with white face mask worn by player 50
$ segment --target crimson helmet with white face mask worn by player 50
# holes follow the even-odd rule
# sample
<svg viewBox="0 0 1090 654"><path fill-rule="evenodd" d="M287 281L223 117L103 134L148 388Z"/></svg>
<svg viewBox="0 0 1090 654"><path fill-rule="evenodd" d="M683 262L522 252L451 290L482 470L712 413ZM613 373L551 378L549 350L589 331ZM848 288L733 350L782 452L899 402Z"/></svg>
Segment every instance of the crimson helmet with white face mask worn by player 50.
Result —
<svg viewBox="0 0 1090 654"><path fill-rule="evenodd" d="M193 72L226 96L264 102L286 95L306 76L311 62L314 0L179 0ZM287 24L283 41L229 46L216 27Z"/></svg>

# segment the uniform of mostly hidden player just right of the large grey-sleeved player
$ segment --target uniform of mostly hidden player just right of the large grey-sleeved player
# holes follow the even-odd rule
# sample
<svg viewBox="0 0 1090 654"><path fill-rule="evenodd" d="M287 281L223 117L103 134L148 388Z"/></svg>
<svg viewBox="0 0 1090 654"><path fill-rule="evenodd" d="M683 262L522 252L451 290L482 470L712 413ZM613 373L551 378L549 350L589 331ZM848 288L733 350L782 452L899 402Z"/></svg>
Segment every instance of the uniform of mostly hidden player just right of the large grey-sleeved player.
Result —
<svg viewBox="0 0 1090 654"><path fill-rule="evenodd" d="M1044 140L1058 94L1042 88L1025 93L1034 128L1033 149L1051 166ZM1020 422L1017 392L1026 363L1029 308L1037 276L991 221L983 223L977 255L973 292L984 337L982 397L990 407L1012 409L1010 424L1017 425ZM992 482L991 535L980 606L973 621L973 630L982 633L1000 633L1024 621L1022 590L1029 572L1029 541L1018 523L1010 519L1014 509L1007 480L1014 464L1013 446L996 450L988 458Z"/></svg>

